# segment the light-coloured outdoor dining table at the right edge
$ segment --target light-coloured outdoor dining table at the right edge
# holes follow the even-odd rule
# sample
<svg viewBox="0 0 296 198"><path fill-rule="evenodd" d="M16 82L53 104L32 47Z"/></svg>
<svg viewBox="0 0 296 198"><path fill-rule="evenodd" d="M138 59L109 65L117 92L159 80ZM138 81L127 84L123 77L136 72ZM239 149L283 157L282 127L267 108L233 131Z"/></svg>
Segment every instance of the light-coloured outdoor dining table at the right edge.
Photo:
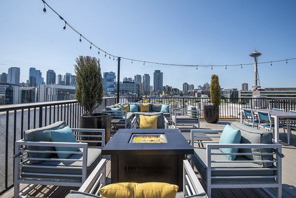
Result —
<svg viewBox="0 0 296 198"><path fill-rule="evenodd" d="M282 118L285 119L295 119L296 114L295 113L289 113L289 112L282 112L282 111L275 111L270 109L252 109L254 114L257 114L257 111L262 112L269 112L270 117L274 119L274 141L279 142L279 120ZM241 115L244 114L244 110L241 110ZM241 116L241 123L243 123L243 118ZM291 133L291 131L287 131L287 134ZM290 135L290 134L289 134ZM288 144L290 144L290 137L288 136Z"/></svg>

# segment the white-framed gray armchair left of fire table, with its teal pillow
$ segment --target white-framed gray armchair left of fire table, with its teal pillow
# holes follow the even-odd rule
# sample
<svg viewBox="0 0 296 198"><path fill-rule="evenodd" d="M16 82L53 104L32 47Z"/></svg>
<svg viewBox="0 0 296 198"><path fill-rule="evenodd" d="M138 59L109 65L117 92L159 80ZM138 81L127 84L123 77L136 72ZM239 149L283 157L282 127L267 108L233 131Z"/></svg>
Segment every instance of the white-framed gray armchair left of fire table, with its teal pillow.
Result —
<svg viewBox="0 0 296 198"><path fill-rule="evenodd" d="M27 130L25 139L15 142L14 198L19 197L21 183L75 187L84 183L102 159L105 129L69 129L65 121L57 121ZM84 141L83 137L101 141ZM89 142L100 146L90 147Z"/></svg>

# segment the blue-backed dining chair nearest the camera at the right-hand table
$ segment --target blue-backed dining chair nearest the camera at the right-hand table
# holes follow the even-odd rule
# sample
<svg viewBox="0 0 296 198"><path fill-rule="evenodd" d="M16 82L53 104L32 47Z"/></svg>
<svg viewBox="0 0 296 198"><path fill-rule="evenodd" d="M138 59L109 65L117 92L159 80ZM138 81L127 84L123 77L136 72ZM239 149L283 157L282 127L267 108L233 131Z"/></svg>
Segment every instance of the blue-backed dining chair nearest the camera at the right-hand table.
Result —
<svg viewBox="0 0 296 198"><path fill-rule="evenodd" d="M263 111L257 111L257 114L258 114L258 118L259 118L258 129L260 127L265 128L266 130L273 132L273 136L274 136L275 126L274 126L274 121L270 117L270 113L263 112ZM263 122L263 124L261 124L261 122ZM287 122L286 126L280 124L279 129L280 128L283 128L284 131L285 131L285 128L287 128L287 130L289 130L288 122Z"/></svg>

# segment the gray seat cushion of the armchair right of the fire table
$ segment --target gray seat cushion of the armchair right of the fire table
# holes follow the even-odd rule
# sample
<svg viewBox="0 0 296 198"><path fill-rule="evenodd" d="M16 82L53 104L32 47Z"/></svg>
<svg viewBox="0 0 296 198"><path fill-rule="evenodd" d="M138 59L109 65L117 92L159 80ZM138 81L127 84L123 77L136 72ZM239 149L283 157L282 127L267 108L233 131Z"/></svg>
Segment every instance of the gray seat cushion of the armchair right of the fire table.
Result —
<svg viewBox="0 0 296 198"><path fill-rule="evenodd" d="M220 150L212 150L212 153L222 153ZM207 181L207 166L206 166L207 152L206 148L194 148L194 156L192 161L201 174L202 178ZM212 155L212 160L224 160L229 161L225 155ZM250 160L244 156L237 156L236 160ZM212 163L212 167L220 168L261 168L258 163ZM272 168L272 167L270 167ZM274 170L247 170L247 171L212 171L212 176L273 176L275 175ZM250 178L250 179L230 179L231 182L274 182L274 178ZM213 182L229 182L229 179L213 179Z"/></svg>

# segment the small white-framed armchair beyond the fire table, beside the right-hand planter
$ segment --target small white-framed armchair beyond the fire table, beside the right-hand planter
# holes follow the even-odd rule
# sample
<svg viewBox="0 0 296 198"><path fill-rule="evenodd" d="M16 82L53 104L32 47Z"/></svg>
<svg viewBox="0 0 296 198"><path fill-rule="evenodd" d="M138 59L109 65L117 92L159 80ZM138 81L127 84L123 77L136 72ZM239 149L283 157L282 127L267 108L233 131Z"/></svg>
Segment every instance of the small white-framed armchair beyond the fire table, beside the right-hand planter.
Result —
<svg viewBox="0 0 296 198"><path fill-rule="evenodd" d="M196 107L189 105L187 108L174 108L172 112L172 124L175 128L177 128L178 125L192 125L194 128L195 124L197 124L197 128L199 128L200 112Z"/></svg>

